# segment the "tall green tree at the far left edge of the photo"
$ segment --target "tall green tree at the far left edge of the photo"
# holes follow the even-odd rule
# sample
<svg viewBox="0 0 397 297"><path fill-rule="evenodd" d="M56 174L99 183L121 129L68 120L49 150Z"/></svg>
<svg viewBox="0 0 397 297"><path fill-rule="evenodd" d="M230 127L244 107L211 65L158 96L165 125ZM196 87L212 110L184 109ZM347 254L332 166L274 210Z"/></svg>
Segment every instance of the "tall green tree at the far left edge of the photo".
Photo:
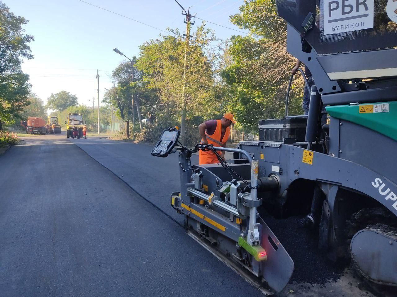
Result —
<svg viewBox="0 0 397 297"><path fill-rule="evenodd" d="M21 118L29 105L29 76L21 70L22 59L32 59L29 43L33 36L25 34L27 20L10 12L0 2L0 130Z"/></svg>

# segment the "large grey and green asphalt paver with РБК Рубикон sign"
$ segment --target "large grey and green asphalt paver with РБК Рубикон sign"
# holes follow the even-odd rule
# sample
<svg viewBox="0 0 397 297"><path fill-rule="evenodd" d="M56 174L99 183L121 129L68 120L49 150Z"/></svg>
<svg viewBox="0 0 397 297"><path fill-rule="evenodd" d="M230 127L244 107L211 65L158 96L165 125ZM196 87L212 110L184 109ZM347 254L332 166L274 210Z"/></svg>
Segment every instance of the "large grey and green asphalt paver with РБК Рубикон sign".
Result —
<svg viewBox="0 0 397 297"><path fill-rule="evenodd" d="M152 155L179 153L171 205L197 242L264 290L281 291L294 270L266 217L297 213L330 259L349 258L369 281L397 286L397 1L276 5L287 51L313 75L308 116L262 120L260 140L235 149L189 149L176 128L164 130ZM200 149L234 158L193 165Z"/></svg>

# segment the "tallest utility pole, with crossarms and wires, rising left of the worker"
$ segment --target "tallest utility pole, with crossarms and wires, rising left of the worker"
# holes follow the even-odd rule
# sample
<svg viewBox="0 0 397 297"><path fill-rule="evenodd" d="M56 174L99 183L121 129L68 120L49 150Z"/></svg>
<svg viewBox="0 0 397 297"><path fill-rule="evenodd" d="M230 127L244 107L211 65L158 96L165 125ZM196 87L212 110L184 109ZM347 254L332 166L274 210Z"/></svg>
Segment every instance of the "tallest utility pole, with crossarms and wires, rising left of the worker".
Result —
<svg viewBox="0 0 397 297"><path fill-rule="evenodd" d="M194 25L194 23L191 23L191 17L192 15L190 14L190 7L189 9L185 10L179 4L177 0L175 2L185 11L185 13L182 13L183 15L186 16L186 20L184 23L186 24L186 34L183 34L183 36L186 36L186 42L185 42L185 59L183 61L183 85L182 85L182 116L181 116L181 143L182 145L185 145L185 131L186 131L186 64L187 64L187 57L189 55L189 40L190 37L193 37L190 35L190 27L191 25Z"/></svg>

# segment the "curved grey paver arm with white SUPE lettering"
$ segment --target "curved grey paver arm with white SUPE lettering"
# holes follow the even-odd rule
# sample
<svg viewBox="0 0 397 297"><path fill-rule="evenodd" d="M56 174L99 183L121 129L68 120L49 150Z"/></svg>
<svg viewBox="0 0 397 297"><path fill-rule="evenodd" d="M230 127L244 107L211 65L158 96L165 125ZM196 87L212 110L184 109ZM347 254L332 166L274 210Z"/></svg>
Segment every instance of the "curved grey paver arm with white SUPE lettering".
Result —
<svg viewBox="0 0 397 297"><path fill-rule="evenodd" d="M390 179L360 164L318 152L312 152L312 162L307 164L303 162L303 148L285 146L291 182L304 178L351 188L374 198L397 216L397 185Z"/></svg>

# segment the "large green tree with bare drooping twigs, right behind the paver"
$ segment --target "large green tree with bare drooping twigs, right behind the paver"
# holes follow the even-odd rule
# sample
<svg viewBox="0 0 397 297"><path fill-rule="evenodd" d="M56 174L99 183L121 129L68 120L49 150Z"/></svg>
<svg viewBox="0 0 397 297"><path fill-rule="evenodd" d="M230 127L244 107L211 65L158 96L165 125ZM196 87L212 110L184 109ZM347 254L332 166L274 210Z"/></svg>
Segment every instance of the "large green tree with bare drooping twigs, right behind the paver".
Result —
<svg viewBox="0 0 397 297"><path fill-rule="evenodd" d="M231 63L222 76L231 86L229 108L246 130L256 132L260 118L283 116L296 59L286 52L286 24L277 14L275 0L246 0L239 10L231 22L251 34L231 38L225 53ZM302 94L299 77L291 88L289 114L302 112Z"/></svg>

